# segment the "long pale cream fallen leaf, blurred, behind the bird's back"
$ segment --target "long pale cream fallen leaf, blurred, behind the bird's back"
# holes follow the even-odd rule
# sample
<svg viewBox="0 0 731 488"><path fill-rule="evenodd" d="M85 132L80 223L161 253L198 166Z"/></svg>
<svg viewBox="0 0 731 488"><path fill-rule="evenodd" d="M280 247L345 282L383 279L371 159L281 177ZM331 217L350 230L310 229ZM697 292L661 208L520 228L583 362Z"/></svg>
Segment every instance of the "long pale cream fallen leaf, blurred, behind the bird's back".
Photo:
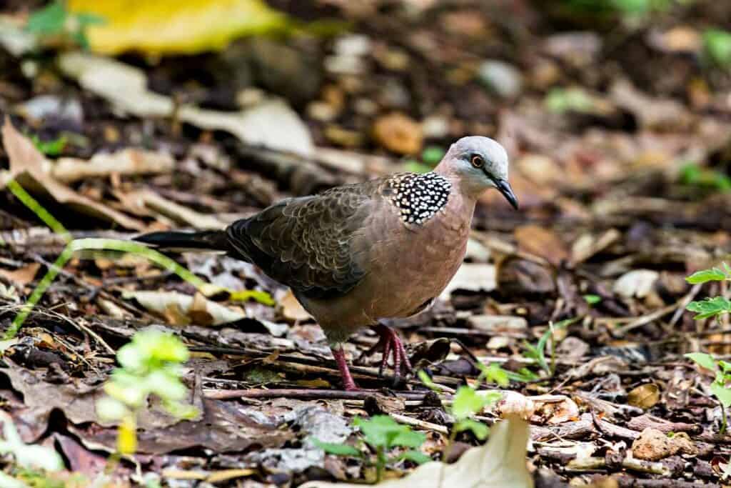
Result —
<svg viewBox="0 0 731 488"><path fill-rule="evenodd" d="M64 53L59 56L58 64L67 76L119 110L139 117L170 117L175 111L173 100L149 90L145 73L129 64L87 53ZM230 132L251 146L306 157L314 154L307 126L294 110L279 100L261 102L239 112L182 105L176 113L180 121L201 129Z"/></svg>

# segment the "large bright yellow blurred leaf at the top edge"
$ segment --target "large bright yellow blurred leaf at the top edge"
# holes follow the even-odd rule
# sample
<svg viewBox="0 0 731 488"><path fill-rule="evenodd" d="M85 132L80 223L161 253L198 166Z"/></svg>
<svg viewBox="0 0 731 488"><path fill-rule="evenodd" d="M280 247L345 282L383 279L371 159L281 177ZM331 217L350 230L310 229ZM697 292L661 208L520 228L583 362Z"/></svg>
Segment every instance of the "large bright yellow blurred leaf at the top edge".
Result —
<svg viewBox="0 0 731 488"><path fill-rule="evenodd" d="M262 0L69 0L69 10L104 18L87 29L91 50L118 54L192 54L225 48L236 37L288 25Z"/></svg>

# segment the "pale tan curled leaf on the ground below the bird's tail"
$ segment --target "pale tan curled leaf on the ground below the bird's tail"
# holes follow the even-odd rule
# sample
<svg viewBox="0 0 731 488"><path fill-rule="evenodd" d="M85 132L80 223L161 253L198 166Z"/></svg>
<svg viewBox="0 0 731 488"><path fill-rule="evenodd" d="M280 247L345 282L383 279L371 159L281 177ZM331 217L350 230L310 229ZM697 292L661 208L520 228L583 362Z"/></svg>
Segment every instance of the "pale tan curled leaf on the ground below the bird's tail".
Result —
<svg viewBox="0 0 731 488"><path fill-rule="evenodd" d="M203 321L198 325L220 326L246 318L242 312L210 301L200 293L192 297L177 292L129 291L122 297L135 299L145 309L169 318L175 325L187 325L197 318Z"/></svg>

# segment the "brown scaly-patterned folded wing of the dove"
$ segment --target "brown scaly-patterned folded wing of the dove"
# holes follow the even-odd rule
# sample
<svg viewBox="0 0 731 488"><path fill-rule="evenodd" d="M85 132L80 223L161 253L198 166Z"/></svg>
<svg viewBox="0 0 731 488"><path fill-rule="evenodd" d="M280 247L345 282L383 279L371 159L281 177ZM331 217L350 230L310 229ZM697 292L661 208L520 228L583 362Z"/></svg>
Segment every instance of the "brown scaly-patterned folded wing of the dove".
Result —
<svg viewBox="0 0 731 488"><path fill-rule="evenodd" d="M234 222L226 230L232 254L308 298L342 296L368 272L366 251L354 244L384 181L283 200Z"/></svg>

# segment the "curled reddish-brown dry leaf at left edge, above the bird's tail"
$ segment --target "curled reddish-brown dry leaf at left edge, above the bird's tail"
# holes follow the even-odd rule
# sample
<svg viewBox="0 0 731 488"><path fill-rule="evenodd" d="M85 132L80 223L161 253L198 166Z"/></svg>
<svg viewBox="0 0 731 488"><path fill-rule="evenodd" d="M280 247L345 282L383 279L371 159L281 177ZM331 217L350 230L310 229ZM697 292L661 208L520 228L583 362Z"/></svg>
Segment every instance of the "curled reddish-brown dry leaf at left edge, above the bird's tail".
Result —
<svg viewBox="0 0 731 488"><path fill-rule="evenodd" d="M145 229L143 222L110 209L104 203L79 195L49 176L43 169L50 164L48 159L35 148L28 138L13 127L9 118L5 119L2 128L2 140L10 158L10 173L7 178L0 178L0 189L5 187L11 179L17 179L18 183L27 191L46 192L58 203L67 204L84 214L116 222L127 229Z"/></svg>

